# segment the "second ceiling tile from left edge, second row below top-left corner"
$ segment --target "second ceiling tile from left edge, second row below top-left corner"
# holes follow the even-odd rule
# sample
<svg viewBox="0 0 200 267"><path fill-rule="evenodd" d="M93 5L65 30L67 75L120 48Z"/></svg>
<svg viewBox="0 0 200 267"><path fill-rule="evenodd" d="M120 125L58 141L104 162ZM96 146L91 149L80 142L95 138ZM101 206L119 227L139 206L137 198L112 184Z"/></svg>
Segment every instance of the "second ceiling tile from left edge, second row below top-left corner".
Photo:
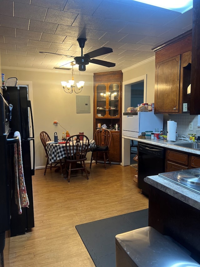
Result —
<svg viewBox="0 0 200 267"><path fill-rule="evenodd" d="M55 33L58 24L45 21L30 20L29 30L42 33Z"/></svg>

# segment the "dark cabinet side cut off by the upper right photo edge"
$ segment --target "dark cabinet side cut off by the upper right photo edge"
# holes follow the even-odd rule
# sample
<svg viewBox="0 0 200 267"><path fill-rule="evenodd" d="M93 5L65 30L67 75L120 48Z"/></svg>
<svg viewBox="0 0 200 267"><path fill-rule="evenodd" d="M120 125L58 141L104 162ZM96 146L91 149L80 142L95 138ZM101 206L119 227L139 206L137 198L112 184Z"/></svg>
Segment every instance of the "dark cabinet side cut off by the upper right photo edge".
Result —
<svg viewBox="0 0 200 267"><path fill-rule="evenodd" d="M200 1L193 0L190 115L200 114Z"/></svg>

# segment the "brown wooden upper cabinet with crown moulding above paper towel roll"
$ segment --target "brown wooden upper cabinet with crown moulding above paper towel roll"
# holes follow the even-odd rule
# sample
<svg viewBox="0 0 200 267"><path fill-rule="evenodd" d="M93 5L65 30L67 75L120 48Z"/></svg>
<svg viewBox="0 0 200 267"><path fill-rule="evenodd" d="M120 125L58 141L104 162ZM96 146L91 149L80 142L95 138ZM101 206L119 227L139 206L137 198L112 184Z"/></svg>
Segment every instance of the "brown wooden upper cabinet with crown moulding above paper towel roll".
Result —
<svg viewBox="0 0 200 267"><path fill-rule="evenodd" d="M155 113L189 113L192 30L153 49L155 61ZM187 103L187 111L183 111Z"/></svg>

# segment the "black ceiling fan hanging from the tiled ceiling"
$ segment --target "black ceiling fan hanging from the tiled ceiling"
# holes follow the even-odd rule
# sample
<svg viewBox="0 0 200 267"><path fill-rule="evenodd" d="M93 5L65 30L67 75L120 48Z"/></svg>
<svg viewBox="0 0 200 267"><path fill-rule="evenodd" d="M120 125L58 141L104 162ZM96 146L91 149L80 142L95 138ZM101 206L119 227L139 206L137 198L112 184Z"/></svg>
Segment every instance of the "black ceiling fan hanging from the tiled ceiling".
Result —
<svg viewBox="0 0 200 267"><path fill-rule="evenodd" d="M94 59L95 57L98 57L98 56L105 55L105 54L113 52L112 48L101 47L99 49L93 50L93 51L83 55L83 48L85 46L85 42L87 41L87 39L78 38L77 41L78 41L78 44L79 44L79 46L81 48L81 56L80 57L73 57L73 56L50 53L50 52L39 52L39 53L55 54L55 55L61 55L61 56L74 58L74 61L75 61L76 64L78 64L78 69L80 71L85 71L86 70L85 66L88 65L89 63L98 64L98 65L105 66L105 67L108 67L108 68L115 66L115 63L104 61L104 60L99 60L99 59Z"/></svg>

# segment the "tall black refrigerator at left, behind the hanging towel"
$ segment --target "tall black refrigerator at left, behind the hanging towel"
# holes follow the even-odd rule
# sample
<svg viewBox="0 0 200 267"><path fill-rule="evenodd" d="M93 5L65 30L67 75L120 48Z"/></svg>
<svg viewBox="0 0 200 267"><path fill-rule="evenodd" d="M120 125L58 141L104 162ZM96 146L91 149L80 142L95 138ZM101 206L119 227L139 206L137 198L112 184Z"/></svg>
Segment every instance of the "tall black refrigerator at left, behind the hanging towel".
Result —
<svg viewBox="0 0 200 267"><path fill-rule="evenodd" d="M29 229L34 227L33 211L33 193L32 193L32 176L35 170L35 146L34 146L34 129L31 102L28 100L27 87L7 87L3 91L4 99L12 105L9 117L9 127L11 128L8 138L14 136L15 131L21 135L22 147L22 164L24 171L24 181L26 185L29 206L22 208L22 214L18 214L17 204L15 203L14 188L14 165L12 164L12 198L11 198L11 220L10 235L16 236L25 234ZM14 150L11 149L11 158Z"/></svg>

